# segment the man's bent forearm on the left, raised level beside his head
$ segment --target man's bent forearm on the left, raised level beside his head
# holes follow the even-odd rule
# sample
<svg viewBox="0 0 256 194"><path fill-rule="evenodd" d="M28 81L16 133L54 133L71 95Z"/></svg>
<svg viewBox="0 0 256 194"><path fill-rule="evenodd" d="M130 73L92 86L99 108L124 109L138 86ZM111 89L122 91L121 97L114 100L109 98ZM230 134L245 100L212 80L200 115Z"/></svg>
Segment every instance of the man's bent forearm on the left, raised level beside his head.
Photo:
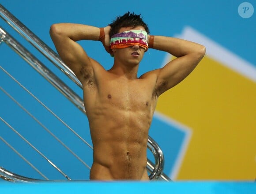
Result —
<svg viewBox="0 0 256 194"><path fill-rule="evenodd" d="M100 30L98 27L74 23L53 24L50 28L51 36L68 37L73 41L94 40L98 41Z"/></svg>

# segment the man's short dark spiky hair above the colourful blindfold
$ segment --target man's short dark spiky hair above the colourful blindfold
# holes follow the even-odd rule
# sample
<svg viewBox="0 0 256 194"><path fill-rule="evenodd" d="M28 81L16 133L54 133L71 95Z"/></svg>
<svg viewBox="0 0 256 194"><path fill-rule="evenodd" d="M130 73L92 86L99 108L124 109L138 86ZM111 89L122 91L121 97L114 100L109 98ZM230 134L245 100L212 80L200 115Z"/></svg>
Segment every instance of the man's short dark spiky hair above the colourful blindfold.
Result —
<svg viewBox="0 0 256 194"><path fill-rule="evenodd" d="M137 26L143 26L146 30L147 34L149 34L149 29L147 24L143 21L142 17L140 17L141 14L136 15L128 11L122 16L117 16L116 19L108 24L111 29L109 32L109 36L113 36L113 34L119 33L120 28L122 27L132 27L135 28Z"/></svg>

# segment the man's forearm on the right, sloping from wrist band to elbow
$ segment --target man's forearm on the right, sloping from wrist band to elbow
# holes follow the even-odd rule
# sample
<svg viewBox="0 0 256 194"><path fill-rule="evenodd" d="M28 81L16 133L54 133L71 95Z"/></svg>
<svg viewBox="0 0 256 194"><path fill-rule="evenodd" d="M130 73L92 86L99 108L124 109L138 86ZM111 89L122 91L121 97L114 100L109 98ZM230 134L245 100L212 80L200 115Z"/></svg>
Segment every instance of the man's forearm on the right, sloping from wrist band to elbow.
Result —
<svg viewBox="0 0 256 194"><path fill-rule="evenodd" d="M186 41L179 38L154 36L154 49L169 52L173 56L181 57L191 53L204 55L205 47L195 42Z"/></svg>

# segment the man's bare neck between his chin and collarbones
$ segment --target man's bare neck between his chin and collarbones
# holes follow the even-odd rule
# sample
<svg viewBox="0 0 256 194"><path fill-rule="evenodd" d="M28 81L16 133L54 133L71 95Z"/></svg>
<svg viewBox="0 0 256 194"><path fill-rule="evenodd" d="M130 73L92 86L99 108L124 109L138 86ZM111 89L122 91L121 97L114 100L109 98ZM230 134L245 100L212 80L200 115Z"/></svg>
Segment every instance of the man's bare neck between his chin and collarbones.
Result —
<svg viewBox="0 0 256 194"><path fill-rule="evenodd" d="M114 62L113 67L109 70L109 72L118 75L123 76L127 79L137 79L137 73L138 73L139 64L137 65L125 65L122 63L116 63Z"/></svg>

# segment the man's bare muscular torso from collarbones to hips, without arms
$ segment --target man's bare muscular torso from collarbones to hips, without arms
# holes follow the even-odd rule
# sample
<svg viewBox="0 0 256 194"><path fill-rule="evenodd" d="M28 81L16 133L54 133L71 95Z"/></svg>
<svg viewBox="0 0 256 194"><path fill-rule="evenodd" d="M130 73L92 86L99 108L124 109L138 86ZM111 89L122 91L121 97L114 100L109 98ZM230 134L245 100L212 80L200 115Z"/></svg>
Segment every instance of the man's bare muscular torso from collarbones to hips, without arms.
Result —
<svg viewBox="0 0 256 194"><path fill-rule="evenodd" d="M154 75L128 80L102 69L84 88L94 146L90 179L148 180L147 138L157 102Z"/></svg>

